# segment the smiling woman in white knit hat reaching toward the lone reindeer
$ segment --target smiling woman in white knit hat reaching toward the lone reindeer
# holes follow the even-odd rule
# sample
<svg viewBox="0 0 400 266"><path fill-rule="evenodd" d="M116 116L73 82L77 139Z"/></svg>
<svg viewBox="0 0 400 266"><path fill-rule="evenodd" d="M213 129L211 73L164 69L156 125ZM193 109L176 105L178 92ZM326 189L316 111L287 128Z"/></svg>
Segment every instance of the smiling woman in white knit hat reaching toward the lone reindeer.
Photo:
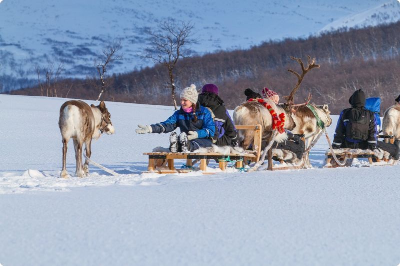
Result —
<svg viewBox="0 0 400 266"><path fill-rule="evenodd" d="M168 133L179 127L169 135L170 152L194 151L201 147L211 146L211 137L214 135L215 125L211 112L198 102L196 86L184 88L180 93L180 109L175 111L167 120L152 125L137 125L136 133Z"/></svg>

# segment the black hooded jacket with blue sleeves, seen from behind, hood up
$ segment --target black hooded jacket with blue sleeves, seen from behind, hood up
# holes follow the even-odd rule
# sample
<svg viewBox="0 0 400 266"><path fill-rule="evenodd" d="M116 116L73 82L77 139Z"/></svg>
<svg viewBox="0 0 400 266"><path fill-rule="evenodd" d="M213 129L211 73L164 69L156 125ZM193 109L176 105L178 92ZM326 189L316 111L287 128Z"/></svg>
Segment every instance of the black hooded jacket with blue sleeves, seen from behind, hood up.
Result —
<svg viewBox="0 0 400 266"><path fill-rule="evenodd" d="M376 146L376 117L364 108L365 94L362 90L355 91L348 100L351 108L344 109L337 121L333 145L343 148L356 148L360 142L367 142L370 148ZM349 144L348 144L349 143ZM350 147L347 147L350 146Z"/></svg>

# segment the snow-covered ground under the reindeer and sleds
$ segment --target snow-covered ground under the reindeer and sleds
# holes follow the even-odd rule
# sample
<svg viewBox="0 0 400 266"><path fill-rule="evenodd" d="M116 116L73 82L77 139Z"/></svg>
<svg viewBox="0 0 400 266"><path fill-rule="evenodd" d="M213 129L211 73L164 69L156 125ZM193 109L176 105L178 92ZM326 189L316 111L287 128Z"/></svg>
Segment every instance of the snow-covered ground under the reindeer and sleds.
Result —
<svg viewBox="0 0 400 266"><path fill-rule="evenodd" d="M87 178L58 178L65 99L0 94L0 264L397 265L399 166L142 174L167 135L134 132L169 106L106 102L115 134ZM91 102L94 103L94 102ZM343 106L343 108L346 106ZM332 116L332 136L337 116ZM67 170L74 173L72 143Z"/></svg>

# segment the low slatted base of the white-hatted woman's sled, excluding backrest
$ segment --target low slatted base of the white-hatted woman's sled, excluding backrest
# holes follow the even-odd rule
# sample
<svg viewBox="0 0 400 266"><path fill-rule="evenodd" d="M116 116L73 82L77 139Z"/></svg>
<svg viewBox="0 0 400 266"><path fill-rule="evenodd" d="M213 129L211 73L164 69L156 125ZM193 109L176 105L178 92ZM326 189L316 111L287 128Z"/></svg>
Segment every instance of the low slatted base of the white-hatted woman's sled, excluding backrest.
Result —
<svg viewBox="0 0 400 266"><path fill-rule="evenodd" d="M219 168L224 171L226 167L226 161L220 161L220 159L236 160L236 168L243 167L243 160L252 160L256 158L254 154L220 154L220 153L168 153L168 152L145 152L143 155L148 155L148 167L147 172L159 173L159 174L171 174L171 173L187 173L189 169L176 169L174 167L174 159L186 159L186 167L192 166L192 160L196 159L200 161L199 169L203 171L203 174L212 174L205 172L207 169L207 160L216 160L219 162ZM157 167L155 160L165 159L167 161L167 168Z"/></svg>

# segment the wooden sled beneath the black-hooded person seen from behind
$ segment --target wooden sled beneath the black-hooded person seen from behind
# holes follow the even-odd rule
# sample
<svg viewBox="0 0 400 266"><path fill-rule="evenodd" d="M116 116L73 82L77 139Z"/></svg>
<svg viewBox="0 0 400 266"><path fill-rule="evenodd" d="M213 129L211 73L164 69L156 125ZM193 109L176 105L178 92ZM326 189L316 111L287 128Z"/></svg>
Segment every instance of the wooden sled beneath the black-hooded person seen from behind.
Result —
<svg viewBox="0 0 400 266"><path fill-rule="evenodd" d="M351 162L353 158L367 158L369 165L372 165L373 163L382 163L385 162L386 164L379 164L379 165L393 165L394 160L390 159L387 160L385 158L379 159L375 156L373 152L360 152L360 153L351 153L351 152L341 152L341 153L335 153L336 158L339 160L339 162L343 162L344 160L350 160L347 161L349 163L346 163L345 165L338 165L336 161L333 159L333 155L331 152L325 153L326 156L326 164L323 166L324 168L335 168L335 167L345 167L345 166L351 166Z"/></svg>

